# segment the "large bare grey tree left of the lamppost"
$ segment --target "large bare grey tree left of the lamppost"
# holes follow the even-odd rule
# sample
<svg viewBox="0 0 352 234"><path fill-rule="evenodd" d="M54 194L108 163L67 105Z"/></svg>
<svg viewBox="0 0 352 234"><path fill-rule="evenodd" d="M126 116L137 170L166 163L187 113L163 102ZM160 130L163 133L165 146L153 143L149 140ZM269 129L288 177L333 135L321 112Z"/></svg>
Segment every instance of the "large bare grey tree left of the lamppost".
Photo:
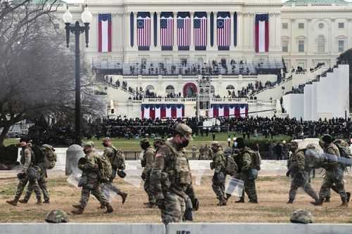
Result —
<svg viewBox="0 0 352 234"><path fill-rule="evenodd" d="M0 0L0 146L16 122L45 114L70 121L74 112L73 56L53 23L59 4ZM82 113L94 115L101 105L88 79L82 86Z"/></svg>

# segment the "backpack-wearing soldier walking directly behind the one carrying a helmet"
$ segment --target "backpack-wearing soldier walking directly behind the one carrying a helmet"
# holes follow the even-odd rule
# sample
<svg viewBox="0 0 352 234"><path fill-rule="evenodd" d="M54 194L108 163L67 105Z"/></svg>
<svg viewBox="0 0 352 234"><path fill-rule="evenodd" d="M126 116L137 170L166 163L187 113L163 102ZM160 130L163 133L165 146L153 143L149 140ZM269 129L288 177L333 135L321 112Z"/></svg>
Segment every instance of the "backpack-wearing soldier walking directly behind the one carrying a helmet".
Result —
<svg viewBox="0 0 352 234"><path fill-rule="evenodd" d="M108 188L108 190L115 192L117 195L120 195L120 197L122 198L122 204L124 204L128 194L122 192L118 187L114 186L113 179L116 177L116 172L118 170L125 169L125 166L122 165L122 163L119 163L119 161L124 160L125 157L123 156L123 152L121 150L118 150L113 146L113 142L111 141L111 138L108 138L108 137L104 138L103 146L105 147L103 155L108 157L108 159L111 162L111 166L113 168L113 174L111 175L110 181L103 183L103 186L105 188Z"/></svg>

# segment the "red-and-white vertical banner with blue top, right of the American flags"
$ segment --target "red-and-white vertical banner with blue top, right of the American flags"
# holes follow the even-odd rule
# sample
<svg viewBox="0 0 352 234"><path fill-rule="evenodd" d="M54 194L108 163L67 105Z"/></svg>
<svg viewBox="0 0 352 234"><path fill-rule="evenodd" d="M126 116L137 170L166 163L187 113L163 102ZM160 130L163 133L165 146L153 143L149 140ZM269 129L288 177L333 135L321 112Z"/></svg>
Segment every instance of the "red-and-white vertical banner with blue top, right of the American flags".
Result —
<svg viewBox="0 0 352 234"><path fill-rule="evenodd" d="M269 51L269 14L256 15L256 52Z"/></svg>

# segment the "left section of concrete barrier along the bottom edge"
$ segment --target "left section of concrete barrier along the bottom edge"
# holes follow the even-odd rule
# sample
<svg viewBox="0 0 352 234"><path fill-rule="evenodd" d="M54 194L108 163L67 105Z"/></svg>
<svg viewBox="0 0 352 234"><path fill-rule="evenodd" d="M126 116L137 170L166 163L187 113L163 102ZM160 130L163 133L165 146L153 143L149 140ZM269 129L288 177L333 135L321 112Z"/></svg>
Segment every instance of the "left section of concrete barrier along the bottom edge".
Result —
<svg viewBox="0 0 352 234"><path fill-rule="evenodd" d="M157 223L0 223L1 234L165 234Z"/></svg>

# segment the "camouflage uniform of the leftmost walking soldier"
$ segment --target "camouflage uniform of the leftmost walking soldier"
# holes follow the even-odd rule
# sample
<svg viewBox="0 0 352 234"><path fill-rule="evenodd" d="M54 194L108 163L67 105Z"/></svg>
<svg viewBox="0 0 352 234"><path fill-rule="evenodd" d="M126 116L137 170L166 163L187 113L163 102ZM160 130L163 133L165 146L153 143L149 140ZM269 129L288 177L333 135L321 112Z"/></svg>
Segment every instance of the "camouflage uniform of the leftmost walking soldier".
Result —
<svg viewBox="0 0 352 234"><path fill-rule="evenodd" d="M20 152L20 156L21 156L20 163L23 164L23 172L26 173L27 169L34 167L34 162L33 162L34 153L28 146L25 146L22 148L22 150ZM34 190L34 193L37 195L37 200L38 200L38 202L40 202L42 200L42 198L41 198L42 195L40 194L37 180L30 181L28 179L27 175L25 175L24 178L22 178L18 181L17 191L15 193L14 200L16 202L18 202L27 183L28 183L28 190L30 190L30 191Z"/></svg>

